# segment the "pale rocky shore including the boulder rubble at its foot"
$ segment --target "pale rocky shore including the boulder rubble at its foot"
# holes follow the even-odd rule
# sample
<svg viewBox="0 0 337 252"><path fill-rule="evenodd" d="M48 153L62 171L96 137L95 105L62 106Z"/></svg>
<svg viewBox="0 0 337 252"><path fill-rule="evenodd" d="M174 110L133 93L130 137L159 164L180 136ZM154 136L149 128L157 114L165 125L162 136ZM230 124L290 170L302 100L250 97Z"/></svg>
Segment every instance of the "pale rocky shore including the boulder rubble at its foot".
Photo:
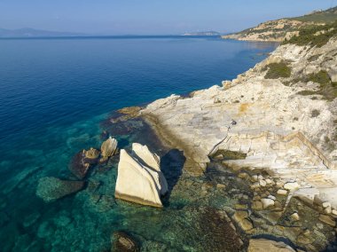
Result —
<svg viewBox="0 0 337 252"><path fill-rule="evenodd" d="M333 82L336 48L334 39L322 48L280 46L247 73L223 82L223 87L194 91L190 98L159 99L138 115L165 145L184 151L183 172L205 174L210 159L216 158L247 181L254 196L232 219L251 237L265 233L291 240L306 251L333 251L336 99L326 98L318 91L319 83L307 82L303 75L324 71ZM270 64L280 62L286 62L291 75L266 78ZM304 91L310 96L302 95ZM238 125L231 125L232 119ZM218 151L247 156L231 159Z"/></svg>

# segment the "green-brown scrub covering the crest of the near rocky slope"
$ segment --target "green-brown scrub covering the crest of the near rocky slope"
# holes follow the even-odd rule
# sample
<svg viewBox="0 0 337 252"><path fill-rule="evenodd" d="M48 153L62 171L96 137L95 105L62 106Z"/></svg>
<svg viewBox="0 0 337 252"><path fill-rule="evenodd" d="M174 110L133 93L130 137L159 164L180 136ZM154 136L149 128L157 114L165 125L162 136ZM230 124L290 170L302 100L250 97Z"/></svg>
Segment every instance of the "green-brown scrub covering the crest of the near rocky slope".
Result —
<svg viewBox="0 0 337 252"><path fill-rule="evenodd" d="M311 25L300 29L299 35L294 35L283 44L294 43L297 45L310 45L322 47L333 36L337 36L337 20L326 25Z"/></svg>

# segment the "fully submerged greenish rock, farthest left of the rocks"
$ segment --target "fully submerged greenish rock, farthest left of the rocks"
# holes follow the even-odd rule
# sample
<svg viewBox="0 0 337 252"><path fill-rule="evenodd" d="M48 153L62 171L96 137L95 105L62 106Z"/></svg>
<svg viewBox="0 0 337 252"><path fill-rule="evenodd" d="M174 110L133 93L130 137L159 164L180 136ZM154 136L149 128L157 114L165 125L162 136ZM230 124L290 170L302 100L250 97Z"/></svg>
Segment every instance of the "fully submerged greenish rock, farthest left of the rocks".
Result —
<svg viewBox="0 0 337 252"><path fill-rule="evenodd" d="M69 194L80 191L84 186L82 181L61 180L57 177L42 177L40 178L36 195L43 201L56 201Z"/></svg>

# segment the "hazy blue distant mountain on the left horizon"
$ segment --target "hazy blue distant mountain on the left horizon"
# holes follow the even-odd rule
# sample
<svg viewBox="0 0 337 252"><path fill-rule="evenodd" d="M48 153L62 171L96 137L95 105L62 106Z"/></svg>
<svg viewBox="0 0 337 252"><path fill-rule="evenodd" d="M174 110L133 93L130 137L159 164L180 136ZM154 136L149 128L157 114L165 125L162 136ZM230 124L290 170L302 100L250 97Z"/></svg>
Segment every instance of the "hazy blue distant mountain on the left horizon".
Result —
<svg viewBox="0 0 337 252"><path fill-rule="evenodd" d="M38 30L33 28L4 29L0 28L0 37L57 37L57 36L78 36L83 34L69 32L55 32L47 30Z"/></svg>

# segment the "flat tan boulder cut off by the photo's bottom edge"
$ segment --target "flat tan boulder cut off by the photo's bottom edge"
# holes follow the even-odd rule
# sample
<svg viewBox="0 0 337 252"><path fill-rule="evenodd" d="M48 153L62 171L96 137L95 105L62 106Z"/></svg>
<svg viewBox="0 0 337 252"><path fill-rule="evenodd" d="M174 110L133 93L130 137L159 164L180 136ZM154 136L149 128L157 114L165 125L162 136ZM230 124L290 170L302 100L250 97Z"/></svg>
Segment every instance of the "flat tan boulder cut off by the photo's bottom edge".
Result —
<svg viewBox="0 0 337 252"><path fill-rule="evenodd" d="M247 252L295 252L293 248L286 243L275 240L251 239Z"/></svg>

